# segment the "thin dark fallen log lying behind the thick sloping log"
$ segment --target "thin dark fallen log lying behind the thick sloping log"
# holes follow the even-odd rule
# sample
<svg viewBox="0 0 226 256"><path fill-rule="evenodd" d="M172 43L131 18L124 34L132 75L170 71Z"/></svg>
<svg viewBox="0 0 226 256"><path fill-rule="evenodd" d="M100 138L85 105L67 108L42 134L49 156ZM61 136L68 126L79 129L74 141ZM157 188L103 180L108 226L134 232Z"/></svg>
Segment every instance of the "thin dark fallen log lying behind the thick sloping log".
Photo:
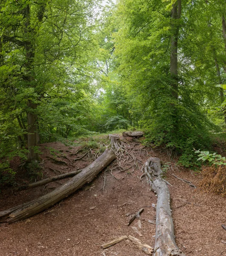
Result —
<svg viewBox="0 0 226 256"><path fill-rule="evenodd" d="M77 171L74 171L74 172L63 173L63 174L55 175L55 176L52 176L52 177L49 177L49 178L46 178L46 179L43 179L43 180L39 180L37 182L30 183L30 184L24 184L22 186L15 187L13 189L13 192L17 192L17 191L21 191L21 190L27 190L27 189L33 189L33 188L36 188L38 186L43 186L45 184L48 184L50 182L54 182L54 181L57 181L57 180L63 180L63 179L69 178L69 177L74 177L75 175L79 174L81 171L82 170L77 170Z"/></svg>

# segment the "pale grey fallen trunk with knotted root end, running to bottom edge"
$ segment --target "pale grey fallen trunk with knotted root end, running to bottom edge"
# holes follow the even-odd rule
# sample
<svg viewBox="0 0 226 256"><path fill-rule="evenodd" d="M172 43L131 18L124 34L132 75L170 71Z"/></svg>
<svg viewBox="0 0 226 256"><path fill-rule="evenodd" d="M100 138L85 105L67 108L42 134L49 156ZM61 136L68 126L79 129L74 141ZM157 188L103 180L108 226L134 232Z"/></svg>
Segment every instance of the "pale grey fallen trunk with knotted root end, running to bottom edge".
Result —
<svg viewBox="0 0 226 256"><path fill-rule="evenodd" d="M185 256L175 242L170 193L162 178L160 159L149 158L143 165L142 171L145 172L152 190L157 194L154 256Z"/></svg>

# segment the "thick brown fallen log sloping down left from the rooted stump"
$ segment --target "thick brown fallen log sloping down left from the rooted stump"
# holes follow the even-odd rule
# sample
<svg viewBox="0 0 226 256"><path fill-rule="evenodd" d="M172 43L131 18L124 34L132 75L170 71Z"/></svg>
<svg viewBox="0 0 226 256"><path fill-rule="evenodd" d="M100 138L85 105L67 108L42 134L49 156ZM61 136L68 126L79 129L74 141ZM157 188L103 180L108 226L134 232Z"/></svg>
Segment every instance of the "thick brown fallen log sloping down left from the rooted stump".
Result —
<svg viewBox="0 0 226 256"><path fill-rule="evenodd" d="M85 183L88 183L93 180L99 172L101 172L105 167L107 167L114 159L116 155L114 151L106 149L100 157L98 157L93 163L85 167L82 172L74 176L69 180L69 182L59 186L54 191L41 196L40 198L34 199L28 203L22 204L17 207L13 207L15 210L12 211L8 209L0 212L0 216L5 212L4 217L0 218L0 222L9 222L24 220L29 218L49 207L61 201L63 198L66 198L68 195L71 195Z"/></svg>

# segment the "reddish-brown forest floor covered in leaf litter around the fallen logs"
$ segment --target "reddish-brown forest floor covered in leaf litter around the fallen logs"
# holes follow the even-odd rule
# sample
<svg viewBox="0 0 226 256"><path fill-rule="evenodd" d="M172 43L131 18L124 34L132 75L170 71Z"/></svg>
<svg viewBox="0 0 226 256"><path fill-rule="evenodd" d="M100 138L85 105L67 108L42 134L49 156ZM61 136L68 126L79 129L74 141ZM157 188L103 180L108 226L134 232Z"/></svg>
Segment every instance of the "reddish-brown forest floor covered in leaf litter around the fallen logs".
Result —
<svg viewBox="0 0 226 256"><path fill-rule="evenodd" d="M139 143L130 142L130 145L137 148L138 169L133 166L122 171L116 168L115 160L92 183L53 207L25 221L0 224L0 256L103 256L100 245L123 235L134 236L154 247L155 225L148 220L155 218L152 204L157 199L146 179L140 179L141 164L149 157L159 157L168 163L166 179L172 184L169 189L178 247L187 256L226 256L226 244L222 242L226 241L226 231L221 227L226 224L226 198L192 189L173 177L175 174L198 185L202 174L176 166L164 148L140 150L143 146ZM44 177L81 169L93 161L94 151L90 151L89 159L86 156L74 162L74 158L83 155L83 152L74 155L79 146L62 143L40 146ZM127 169L129 165L125 163L121 161L121 166ZM18 161L12 166L17 168ZM23 171L17 173L17 181L26 181ZM3 189L0 210L37 198L65 182L60 180L49 183L45 189L39 187L14 194L10 189ZM128 227L129 214L142 207L140 221L135 219ZM105 249L104 253L106 256L146 255L129 240Z"/></svg>

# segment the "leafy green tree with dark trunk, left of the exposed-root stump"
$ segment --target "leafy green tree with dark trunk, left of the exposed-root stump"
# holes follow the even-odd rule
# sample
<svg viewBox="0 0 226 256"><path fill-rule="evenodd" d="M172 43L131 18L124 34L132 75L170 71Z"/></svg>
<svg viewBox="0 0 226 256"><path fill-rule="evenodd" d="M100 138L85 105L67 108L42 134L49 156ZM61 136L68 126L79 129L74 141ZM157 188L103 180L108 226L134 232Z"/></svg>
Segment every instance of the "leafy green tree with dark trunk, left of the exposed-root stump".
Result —
<svg viewBox="0 0 226 256"><path fill-rule="evenodd" d="M77 101L77 107L81 108L81 99L87 96L95 5L91 0L5 0L0 4L1 91L4 95L1 109L3 113L17 110L11 118L12 122L17 119L17 125L23 129L23 139L27 140L29 149L28 161L39 160L37 145L45 126L43 121L51 121L46 118L46 111L53 102L66 99L64 105L76 108L72 103ZM68 114L65 112L64 116ZM55 115L54 121L56 119ZM70 124L66 125L63 136L71 130Z"/></svg>

